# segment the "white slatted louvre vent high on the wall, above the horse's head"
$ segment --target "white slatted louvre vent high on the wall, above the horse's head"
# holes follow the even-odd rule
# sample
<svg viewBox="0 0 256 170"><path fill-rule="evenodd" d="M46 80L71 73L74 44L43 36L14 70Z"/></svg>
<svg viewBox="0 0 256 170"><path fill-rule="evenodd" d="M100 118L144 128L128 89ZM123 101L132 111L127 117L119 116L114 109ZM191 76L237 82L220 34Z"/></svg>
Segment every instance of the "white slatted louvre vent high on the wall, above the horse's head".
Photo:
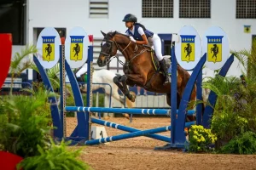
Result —
<svg viewBox="0 0 256 170"><path fill-rule="evenodd" d="M91 18L108 18L108 0L90 0Z"/></svg>

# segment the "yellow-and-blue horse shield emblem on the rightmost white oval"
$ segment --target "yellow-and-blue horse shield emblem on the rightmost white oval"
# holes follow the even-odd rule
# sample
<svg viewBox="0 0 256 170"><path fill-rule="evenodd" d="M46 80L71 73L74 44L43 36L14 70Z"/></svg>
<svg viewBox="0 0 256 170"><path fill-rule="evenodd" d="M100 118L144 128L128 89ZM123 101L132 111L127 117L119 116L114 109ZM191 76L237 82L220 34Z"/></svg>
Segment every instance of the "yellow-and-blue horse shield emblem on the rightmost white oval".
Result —
<svg viewBox="0 0 256 170"><path fill-rule="evenodd" d="M207 61L222 61L222 38L223 36L207 36Z"/></svg>

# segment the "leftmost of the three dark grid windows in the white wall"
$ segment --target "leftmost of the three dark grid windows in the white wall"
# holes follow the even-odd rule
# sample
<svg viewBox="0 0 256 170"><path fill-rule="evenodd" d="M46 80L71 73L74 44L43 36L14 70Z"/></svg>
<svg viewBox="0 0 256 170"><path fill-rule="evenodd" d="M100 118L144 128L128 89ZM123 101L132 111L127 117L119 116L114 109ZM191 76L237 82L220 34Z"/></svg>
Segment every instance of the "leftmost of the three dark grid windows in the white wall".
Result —
<svg viewBox="0 0 256 170"><path fill-rule="evenodd" d="M173 0L143 0L143 18L173 18Z"/></svg>

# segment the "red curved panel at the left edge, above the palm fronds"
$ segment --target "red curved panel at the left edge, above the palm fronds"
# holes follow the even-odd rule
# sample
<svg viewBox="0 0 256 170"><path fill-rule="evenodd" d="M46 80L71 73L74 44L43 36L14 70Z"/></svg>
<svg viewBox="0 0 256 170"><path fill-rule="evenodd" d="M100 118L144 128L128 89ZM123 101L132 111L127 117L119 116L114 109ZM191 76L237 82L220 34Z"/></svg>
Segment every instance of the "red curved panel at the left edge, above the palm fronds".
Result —
<svg viewBox="0 0 256 170"><path fill-rule="evenodd" d="M12 34L0 34L0 51L1 51L1 72L0 72L0 88L8 75L9 65L12 56Z"/></svg>

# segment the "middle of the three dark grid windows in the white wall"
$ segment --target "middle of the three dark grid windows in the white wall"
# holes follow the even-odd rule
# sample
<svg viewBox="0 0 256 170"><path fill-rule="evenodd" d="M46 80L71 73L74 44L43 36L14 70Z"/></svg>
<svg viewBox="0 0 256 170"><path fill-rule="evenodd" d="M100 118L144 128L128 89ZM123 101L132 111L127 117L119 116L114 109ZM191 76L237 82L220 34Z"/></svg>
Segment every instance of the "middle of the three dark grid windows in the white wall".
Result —
<svg viewBox="0 0 256 170"><path fill-rule="evenodd" d="M179 18L211 18L211 0L179 0Z"/></svg>

